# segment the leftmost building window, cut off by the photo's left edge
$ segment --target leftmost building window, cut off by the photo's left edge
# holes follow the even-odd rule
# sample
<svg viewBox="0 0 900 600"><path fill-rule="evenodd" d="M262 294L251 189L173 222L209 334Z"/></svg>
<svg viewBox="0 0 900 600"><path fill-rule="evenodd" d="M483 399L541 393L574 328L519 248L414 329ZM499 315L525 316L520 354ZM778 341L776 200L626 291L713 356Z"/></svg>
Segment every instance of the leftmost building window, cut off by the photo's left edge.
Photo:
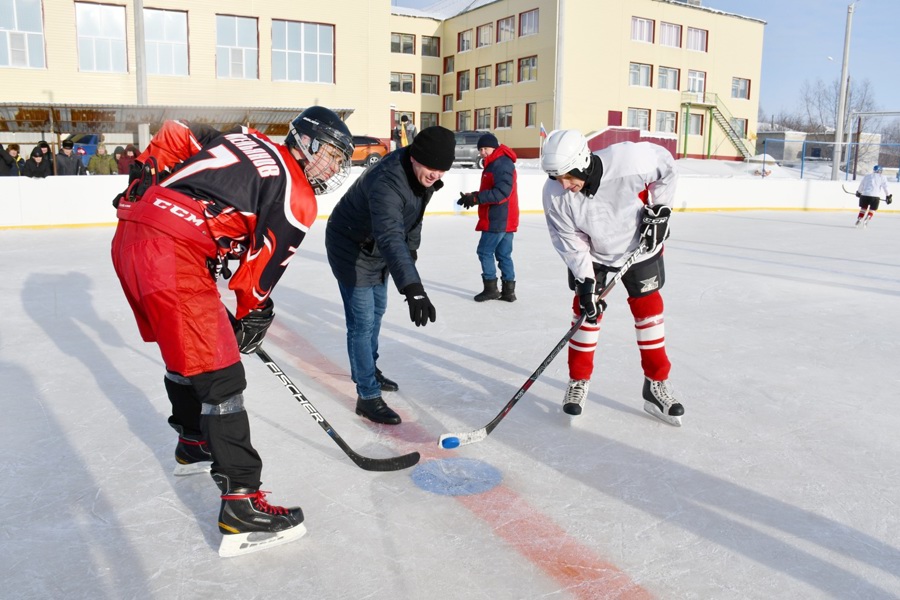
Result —
<svg viewBox="0 0 900 600"><path fill-rule="evenodd" d="M0 67L44 68L41 3L0 1Z"/></svg>

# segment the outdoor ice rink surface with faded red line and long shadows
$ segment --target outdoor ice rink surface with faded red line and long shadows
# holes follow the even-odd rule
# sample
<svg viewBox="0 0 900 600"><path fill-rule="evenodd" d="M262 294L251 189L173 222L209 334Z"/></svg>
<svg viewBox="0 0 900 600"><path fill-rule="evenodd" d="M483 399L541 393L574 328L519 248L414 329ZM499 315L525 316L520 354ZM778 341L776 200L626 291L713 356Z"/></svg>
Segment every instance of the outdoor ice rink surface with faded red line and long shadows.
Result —
<svg viewBox="0 0 900 600"><path fill-rule="evenodd" d="M857 230L855 214L674 215L663 296L683 427L642 410L619 288L582 416L561 409L564 351L486 440L452 451L438 437L490 421L569 327L543 216L523 215L513 304L472 301L475 219L426 217L437 322L414 327L392 287L382 331L396 427L354 414L319 220L265 348L358 452L422 461L357 468L245 357L263 489L301 505L308 533L232 559L212 480L171 474L164 370L110 265L113 229L0 231L0 596L900 598L900 215ZM487 489L440 493L472 488Z"/></svg>

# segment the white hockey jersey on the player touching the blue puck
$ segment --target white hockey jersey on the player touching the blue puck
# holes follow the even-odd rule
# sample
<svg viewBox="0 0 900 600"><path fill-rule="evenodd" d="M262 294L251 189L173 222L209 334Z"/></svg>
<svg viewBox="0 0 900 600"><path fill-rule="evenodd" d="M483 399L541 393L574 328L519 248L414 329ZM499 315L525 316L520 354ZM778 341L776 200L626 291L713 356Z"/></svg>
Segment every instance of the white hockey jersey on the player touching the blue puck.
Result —
<svg viewBox="0 0 900 600"><path fill-rule="evenodd" d="M625 262L640 243L642 197L649 192L648 203L671 207L678 179L675 160L657 144L622 142L594 154L603 164L596 194L566 191L554 180L543 192L550 240L579 281L594 277L592 263Z"/></svg>

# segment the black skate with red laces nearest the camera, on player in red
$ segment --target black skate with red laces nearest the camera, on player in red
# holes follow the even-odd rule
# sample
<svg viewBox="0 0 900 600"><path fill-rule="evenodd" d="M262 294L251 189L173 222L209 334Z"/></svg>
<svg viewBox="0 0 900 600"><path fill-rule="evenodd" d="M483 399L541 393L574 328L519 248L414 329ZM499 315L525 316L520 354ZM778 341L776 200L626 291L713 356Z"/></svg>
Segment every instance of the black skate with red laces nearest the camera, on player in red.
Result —
<svg viewBox="0 0 900 600"><path fill-rule="evenodd" d="M219 479L216 483L221 487ZM219 556L231 557L292 542L303 537L306 527L299 506L272 506L266 502L266 492L233 488L222 494L219 531Z"/></svg>

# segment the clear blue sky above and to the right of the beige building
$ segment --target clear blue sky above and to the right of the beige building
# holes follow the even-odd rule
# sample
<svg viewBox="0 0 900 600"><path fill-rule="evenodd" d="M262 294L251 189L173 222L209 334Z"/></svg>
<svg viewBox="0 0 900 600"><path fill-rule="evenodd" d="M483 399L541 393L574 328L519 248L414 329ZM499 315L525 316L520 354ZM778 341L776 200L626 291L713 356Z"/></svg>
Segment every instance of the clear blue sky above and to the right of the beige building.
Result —
<svg viewBox="0 0 900 600"><path fill-rule="evenodd" d="M422 8L434 1L392 0L392 4ZM804 81L840 78L849 4L848 0L703 0L708 8L766 21L758 89L767 116L799 110ZM879 110L900 112L900 0L855 4L850 78L871 82Z"/></svg>

